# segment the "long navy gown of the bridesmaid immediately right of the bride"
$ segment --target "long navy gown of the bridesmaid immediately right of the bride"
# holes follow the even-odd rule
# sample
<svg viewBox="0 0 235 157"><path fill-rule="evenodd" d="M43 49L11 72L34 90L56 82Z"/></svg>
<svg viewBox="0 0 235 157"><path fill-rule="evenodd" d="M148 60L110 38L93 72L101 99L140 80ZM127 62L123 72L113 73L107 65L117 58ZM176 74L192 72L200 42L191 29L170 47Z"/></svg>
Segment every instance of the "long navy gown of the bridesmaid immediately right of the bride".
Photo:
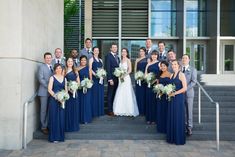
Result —
<svg viewBox="0 0 235 157"><path fill-rule="evenodd" d="M144 73L146 65L147 58L140 60L137 63L136 71L142 71ZM147 84L144 81L141 81L141 86L137 82L135 83L135 95L140 115L145 115L146 112L146 86Z"/></svg>

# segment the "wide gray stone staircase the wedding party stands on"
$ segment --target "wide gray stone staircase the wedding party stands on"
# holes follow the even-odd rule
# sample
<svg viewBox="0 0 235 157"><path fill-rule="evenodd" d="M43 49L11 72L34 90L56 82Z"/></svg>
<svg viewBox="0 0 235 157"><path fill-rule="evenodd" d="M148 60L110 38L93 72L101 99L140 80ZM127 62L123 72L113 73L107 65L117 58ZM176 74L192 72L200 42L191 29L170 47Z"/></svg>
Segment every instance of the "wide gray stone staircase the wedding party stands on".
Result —
<svg viewBox="0 0 235 157"><path fill-rule="evenodd" d="M235 140L235 87L204 86L209 95L220 103L220 139ZM201 124L198 124L198 88L195 87L193 136L187 140L215 140L215 104L202 94ZM40 131L35 139L46 139ZM102 116L91 124L80 125L80 131L66 133L66 139L89 140L164 140L165 135L156 132L155 125L147 125L144 117Z"/></svg>

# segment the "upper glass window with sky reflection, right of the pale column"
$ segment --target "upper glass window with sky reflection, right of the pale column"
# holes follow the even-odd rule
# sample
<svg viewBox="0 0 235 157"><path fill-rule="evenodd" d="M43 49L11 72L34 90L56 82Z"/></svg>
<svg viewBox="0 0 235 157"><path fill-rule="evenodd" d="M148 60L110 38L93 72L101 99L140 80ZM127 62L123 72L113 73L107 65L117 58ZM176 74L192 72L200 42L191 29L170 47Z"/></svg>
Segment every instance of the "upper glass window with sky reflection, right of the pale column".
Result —
<svg viewBox="0 0 235 157"><path fill-rule="evenodd" d="M206 36L205 0L186 0L186 36Z"/></svg>

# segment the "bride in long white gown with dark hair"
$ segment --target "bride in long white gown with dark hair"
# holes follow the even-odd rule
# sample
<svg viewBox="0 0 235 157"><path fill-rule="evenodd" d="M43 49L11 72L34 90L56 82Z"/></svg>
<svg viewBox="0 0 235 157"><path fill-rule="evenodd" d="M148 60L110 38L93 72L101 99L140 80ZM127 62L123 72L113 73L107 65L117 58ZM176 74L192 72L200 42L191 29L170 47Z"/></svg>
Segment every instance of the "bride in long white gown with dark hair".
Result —
<svg viewBox="0 0 235 157"><path fill-rule="evenodd" d="M113 102L113 112L118 116L138 116L139 110L129 75L131 73L131 61L126 48L122 49L122 60L119 66L127 71L127 75L124 77L124 82L119 79Z"/></svg>

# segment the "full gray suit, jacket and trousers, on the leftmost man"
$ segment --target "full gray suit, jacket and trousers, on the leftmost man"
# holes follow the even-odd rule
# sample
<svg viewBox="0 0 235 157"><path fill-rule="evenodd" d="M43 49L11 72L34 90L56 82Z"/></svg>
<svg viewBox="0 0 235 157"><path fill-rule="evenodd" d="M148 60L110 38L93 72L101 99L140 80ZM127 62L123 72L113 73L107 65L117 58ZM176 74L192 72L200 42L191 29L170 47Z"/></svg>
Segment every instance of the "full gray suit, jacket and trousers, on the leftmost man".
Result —
<svg viewBox="0 0 235 157"><path fill-rule="evenodd" d="M42 64L39 66L38 70L38 81L40 83L38 96L40 97L41 103L41 110L40 110L40 121L41 121L41 128L47 128L47 106L48 106L48 83L49 78L52 76L52 71L48 67L47 64Z"/></svg>

